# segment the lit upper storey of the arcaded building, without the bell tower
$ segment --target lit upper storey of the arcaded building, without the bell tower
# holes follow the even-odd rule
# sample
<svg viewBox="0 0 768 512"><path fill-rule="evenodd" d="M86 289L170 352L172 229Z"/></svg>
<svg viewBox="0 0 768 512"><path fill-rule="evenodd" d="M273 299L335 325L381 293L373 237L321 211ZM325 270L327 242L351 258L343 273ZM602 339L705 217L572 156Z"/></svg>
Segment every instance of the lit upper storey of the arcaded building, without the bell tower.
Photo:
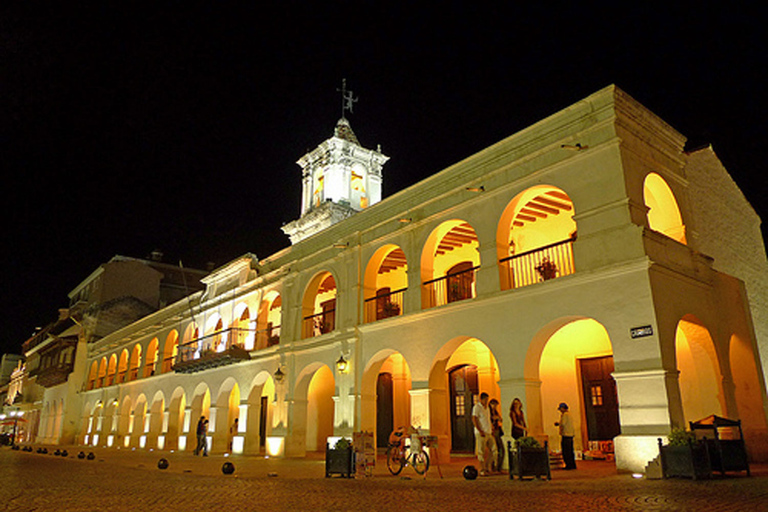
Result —
<svg viewBox="0 0 768 512"><path fill-rule="evenodd" d="M164 328L140 336L145 370L134 373L258 358L640 259L701 279L692 267L711 262L688 246L696 219L683 145L606 88L289 248L222 267ZM88 386L115 383L121 367L131 378L129 337L91 355ZM233 356L239 349L246 356Z"/></svg>

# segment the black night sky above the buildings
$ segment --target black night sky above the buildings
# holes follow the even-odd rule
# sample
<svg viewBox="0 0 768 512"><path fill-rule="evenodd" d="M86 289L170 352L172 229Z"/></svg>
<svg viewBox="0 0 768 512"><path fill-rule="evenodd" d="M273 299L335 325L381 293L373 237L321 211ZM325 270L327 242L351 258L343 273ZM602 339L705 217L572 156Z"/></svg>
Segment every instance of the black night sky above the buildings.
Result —
<svg viewBox="0 0 768 512"><path fill-rule="evenodd" d="M754 10L9 3L0 352L115 254L203 267L287 246L295 162L332 134L342 78L360 142L391 157L385 197L615 83L690 147L711 143L768 215Z"/></svg>

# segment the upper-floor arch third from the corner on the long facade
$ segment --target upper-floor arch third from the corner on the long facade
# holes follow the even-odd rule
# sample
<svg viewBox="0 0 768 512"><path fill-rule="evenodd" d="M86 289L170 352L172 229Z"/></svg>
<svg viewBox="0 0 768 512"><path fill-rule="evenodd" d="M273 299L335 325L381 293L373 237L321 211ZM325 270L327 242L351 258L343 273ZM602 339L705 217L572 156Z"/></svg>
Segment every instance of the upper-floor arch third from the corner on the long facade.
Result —
<svg viewBox="0 0 768 512"><path fill-rule="evenodd" d="M363 277L365 321L403 314L408 261L400 246L385 244L368 260Z"/></svg>

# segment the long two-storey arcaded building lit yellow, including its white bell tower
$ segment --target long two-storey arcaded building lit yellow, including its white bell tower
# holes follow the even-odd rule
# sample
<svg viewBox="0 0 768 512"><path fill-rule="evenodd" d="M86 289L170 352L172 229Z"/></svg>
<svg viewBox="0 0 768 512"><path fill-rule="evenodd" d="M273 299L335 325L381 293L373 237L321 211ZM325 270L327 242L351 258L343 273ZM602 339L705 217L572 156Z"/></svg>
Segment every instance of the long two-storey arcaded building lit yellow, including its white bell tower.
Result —
<svg viewBox="0 0 768 512"><path fill-rule="evenodd" d="M342 119L299 160L290 247L87 344L77 440L189 450L206 416L213 451L303 456L410 424L446 460L486 391L540 438L567 402L622 470L713 413L768 460L760 219L684 144L611 86L381 199L387 157Z"/></svg>

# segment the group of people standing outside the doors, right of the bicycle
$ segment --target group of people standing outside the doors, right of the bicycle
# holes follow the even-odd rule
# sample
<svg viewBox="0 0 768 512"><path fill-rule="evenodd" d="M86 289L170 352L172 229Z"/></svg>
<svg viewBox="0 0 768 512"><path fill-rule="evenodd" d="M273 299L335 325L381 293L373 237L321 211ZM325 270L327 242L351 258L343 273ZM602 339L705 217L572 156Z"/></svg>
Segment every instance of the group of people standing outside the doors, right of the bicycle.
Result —
<svg viewBox="0 0 768 512"><path fill-rule="evenodd" d="M575 434L573 421L568 412L568 404L561 403L558 407L560 421L555 423L559 428L561 449L565 469L576 469L576 459L573 451L573 436ZM519 439L528 434L528 426L523 414L523 403L519 398L512 400L509 407L509 418L512 420L512 437ZM490 399L488 393L480 394L480 401L472 408L472 423L475 426L475 453L480 463L480 475L500 473L504 462L503 420L499 412L499 401Z"/></svg>

